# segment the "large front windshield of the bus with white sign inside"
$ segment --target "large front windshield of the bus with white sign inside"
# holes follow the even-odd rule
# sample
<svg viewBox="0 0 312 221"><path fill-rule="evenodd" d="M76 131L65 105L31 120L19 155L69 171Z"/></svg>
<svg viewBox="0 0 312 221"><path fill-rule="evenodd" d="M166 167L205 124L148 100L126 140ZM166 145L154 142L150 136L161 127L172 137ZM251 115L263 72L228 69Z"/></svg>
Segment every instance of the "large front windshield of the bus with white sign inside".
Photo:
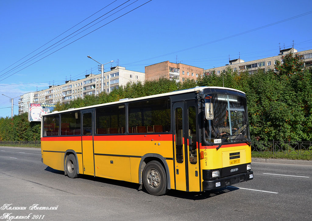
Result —
<svg viewBox="0 0 312 221"><path fill-rule="evenodd" d="M205 140L210 143L250 140L246 98L227 94L207 95L212 103L213 119L205 119Z"/></svg>

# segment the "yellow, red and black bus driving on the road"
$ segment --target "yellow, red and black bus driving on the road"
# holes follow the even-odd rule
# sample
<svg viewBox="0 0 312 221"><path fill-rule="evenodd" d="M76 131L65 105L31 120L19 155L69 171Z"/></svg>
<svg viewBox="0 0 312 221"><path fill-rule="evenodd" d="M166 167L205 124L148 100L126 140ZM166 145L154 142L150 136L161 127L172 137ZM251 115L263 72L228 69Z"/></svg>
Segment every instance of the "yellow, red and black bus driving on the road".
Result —
<svg viewBox="0 0 312 221"><path fill-rule="evenodd" d="M152 195L253 179L246 95L196 87L43 115L42 162L140 184Z"/></svg>

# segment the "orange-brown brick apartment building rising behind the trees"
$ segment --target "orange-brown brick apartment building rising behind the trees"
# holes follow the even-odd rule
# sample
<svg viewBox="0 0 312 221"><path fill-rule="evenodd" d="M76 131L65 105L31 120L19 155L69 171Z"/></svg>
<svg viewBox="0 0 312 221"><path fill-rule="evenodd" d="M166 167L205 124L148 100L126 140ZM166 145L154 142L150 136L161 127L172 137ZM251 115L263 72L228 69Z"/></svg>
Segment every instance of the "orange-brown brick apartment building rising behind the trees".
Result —
<svg viewBox="0 0 312 221"><path fill-rule="evenodd" d="M146 80L158 80L161 77L182 82L186 79L196 79L203 74L203 68L198 68L181 63L175 64L163 61L145 67Z"/></svg>

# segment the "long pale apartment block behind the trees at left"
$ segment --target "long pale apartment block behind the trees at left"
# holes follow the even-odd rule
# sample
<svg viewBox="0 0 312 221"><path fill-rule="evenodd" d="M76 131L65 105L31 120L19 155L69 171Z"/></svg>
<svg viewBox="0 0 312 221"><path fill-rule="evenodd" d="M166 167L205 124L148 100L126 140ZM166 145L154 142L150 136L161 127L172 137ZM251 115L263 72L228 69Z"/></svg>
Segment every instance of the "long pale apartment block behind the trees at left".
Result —
<svg viewBox="0 0 312 221"><path fill-rule="evenodd" d="M126 85L145 81L145 73L126 70L124 67L112 67L104 73L103 89L106 93ZM67 103L77 98L84 98L86 95L97 95L101 93L101 74L88 74L84 79L76 81L68 80L62 85L51 85L48 89L27 93L32 100L24 102L24 97L19 101L19 113L27 112L29 103ZM27 95L28 96L28 95ZM26 111L27 108L27 111ZM23 112L22 112L23 110Z"/></svg>

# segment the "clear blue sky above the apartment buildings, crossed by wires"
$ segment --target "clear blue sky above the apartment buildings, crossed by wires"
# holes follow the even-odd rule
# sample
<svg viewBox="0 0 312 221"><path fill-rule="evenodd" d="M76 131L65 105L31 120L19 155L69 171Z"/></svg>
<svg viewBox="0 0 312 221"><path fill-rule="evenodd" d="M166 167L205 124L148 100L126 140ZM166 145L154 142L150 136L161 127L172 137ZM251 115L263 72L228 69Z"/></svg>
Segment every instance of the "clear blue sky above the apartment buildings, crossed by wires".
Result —
<svg viewBox="0 0 312 221"><path fill-rule="evenodd" d="M116 65L118 60L119 66L144 72L145 66L166 60L208 69L227 64L229 55L230 59L238 58L239 52L241 59L245 61L274 56L279 53L279 43L282 48L284 44L285 48L289 48L293 40L298 51L312 49L312 13L206 44L312 11L311 1L152 0L105 25L148 1L130 0L96 22L134 2L129 7L74 36L96 22L86 26L60 46L10 71L126 0L117 0L51 41L113 1L0 0L0 71L3 70L0 72L0 75L3 74L0 76L0 94L16 97L37 89L46 89L49 82L63 84L70 77L74 80L81 79L86 72L90 73L91 68L92 73L97 74L97 63L87 58L87 55L100 63L115 60ZM103 27L75 41L100 26ZM48 41L51 42L43 46ZM72 41L75 42L30 65ZM41 46L43 47L22 59ZM199 47L184 50L194 46ZM17 62L20 59L22 60ZM15 62L17 63L12 65ZM12 66L9 67L10 65ZM30 66L21 70L28 65ZM105 65L105 68L109 69L110 65ZM21 71L17 72L18 70ZM11 74L13 75L8 77ZM18 98L14 99L14 104L17 105L17 101ZM18 113L16 105L14 114ZM0 95L0 108L3 108L0 109L0 117L11 116L11 109L6 108L10 106L9 98Z"/></svg>

